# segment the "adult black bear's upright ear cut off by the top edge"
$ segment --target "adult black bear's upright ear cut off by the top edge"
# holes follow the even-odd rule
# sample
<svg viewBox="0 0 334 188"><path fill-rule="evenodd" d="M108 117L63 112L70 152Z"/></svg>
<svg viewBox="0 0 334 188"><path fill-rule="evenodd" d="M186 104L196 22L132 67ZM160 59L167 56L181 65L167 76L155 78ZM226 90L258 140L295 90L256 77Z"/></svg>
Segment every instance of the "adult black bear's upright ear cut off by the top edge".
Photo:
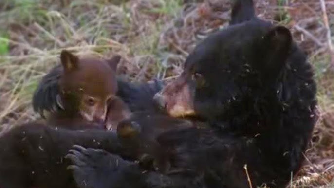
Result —
<svg viewBox="0 0 334 188"><path fill-rule="evenodd" d="M255 18L253 0L233 0L230 25Z"/></svg>

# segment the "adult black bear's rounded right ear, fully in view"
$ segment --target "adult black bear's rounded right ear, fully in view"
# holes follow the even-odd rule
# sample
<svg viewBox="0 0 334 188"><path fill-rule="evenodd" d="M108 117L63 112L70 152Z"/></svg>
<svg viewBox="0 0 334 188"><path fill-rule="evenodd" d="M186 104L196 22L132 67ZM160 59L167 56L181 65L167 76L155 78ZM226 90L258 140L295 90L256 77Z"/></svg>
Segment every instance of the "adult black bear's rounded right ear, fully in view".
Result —
<svg viewBox="0 0 334 188"><path fill-rule="evenodd" d="M260 67L266 73L276 76L286 65L291 50L292 36L289 29L275 26L262 37L261 45L265 58Z"/></svg>

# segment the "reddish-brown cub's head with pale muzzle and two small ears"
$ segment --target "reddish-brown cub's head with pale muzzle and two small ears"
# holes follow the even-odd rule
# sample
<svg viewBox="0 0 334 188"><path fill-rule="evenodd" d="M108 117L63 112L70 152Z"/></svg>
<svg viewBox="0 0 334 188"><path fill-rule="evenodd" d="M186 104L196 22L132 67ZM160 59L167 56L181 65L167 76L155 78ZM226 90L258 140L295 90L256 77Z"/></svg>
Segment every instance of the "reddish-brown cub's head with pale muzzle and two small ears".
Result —
<svg viewBox="0 0 334 188"><path fill-rule="evenodd" d="M120 56L111 59L78 57L63 50L63 74L59 79L57 103L68 115L102 123L108 104L117 92L116 67Z"/></svg>

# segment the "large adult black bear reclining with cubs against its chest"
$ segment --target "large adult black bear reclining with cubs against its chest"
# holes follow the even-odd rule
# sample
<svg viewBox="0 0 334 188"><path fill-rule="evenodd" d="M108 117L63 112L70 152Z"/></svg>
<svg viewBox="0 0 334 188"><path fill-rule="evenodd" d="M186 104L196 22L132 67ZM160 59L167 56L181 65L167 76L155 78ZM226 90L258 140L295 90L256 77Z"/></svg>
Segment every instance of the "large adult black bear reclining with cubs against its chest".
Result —
<svg viewBox="0 0 334 188"><path fill-rule="evenodd" d="M287 185L317 119L312 67L287 28L255 16L252 0L234 1L230 23L204 39L187 57L184 72L154 97L171 116L201 118L211 127L158 136L170 169L179 172L159 179L133 170L131 177L142 177L144 185L120 182L113 174L122 177L135 163L106 166L116 153L76 147L69 158L81 188Z"/></svg>

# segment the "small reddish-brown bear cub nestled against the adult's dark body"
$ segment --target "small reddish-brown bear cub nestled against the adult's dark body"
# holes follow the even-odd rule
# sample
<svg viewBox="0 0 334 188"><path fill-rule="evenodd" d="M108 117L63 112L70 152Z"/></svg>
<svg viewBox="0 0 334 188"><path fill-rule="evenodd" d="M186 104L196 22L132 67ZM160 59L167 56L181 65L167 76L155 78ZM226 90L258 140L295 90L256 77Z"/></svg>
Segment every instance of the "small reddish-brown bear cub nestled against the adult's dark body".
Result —
<svg viewBox="0 0 334 188"><path fill-rule="evenodd" d="M126 116L127 107L120 105L123 102L116 97L116 68L120 56L80 58L63 50L60 60L63 71L58 81L56 102L61 110L47 117L49 125L68 129L105 128L107 113L113 122ZM111 103L122 109L114 108Z"/></svg>

